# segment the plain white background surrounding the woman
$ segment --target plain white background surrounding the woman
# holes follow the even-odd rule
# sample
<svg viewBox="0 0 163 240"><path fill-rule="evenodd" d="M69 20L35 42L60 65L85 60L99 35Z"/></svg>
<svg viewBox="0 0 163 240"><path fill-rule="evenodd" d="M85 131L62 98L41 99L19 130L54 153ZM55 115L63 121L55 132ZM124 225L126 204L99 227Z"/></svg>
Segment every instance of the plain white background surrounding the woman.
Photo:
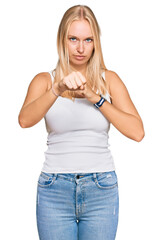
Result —
<svg viewBox="0 0 163 240"><path fill-rule="evenodd" d="M116 239L163 239L163 15L158 0L1 3L0 238L38 239L36 187L47 132L44 119L22 129L18 114L33 77L55 68L60 20L77 4L94 11L101 27L105 64L125 83L145 128L139 143L112 125L109 132L120 194Z"/></svg>

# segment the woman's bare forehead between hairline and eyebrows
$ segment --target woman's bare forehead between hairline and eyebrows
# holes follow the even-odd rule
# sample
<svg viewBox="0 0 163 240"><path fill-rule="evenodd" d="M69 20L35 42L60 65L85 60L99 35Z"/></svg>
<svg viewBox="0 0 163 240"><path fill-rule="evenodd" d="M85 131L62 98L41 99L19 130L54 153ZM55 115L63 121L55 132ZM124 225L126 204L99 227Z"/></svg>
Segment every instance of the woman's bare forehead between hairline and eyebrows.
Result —
<svg viewBox="0 0 163 240"><path fill-rule="evenodd" d="M75 20L71 23L68 35L74 35L79 38L93 36L90 24L87 20Z"/></svg>

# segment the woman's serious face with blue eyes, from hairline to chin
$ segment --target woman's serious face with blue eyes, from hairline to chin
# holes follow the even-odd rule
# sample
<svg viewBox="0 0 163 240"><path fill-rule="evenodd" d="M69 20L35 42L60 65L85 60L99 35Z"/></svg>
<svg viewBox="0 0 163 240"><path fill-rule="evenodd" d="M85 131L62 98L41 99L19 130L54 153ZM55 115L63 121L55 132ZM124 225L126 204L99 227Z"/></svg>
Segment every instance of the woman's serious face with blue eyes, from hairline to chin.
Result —
<svg viewBox="0 0 163 240"><path fill-rule="evenodd" d="M90 24L87 20L75 20L68 32L68 52L70 65L84 68L90 59L94 43Z"/></svg>

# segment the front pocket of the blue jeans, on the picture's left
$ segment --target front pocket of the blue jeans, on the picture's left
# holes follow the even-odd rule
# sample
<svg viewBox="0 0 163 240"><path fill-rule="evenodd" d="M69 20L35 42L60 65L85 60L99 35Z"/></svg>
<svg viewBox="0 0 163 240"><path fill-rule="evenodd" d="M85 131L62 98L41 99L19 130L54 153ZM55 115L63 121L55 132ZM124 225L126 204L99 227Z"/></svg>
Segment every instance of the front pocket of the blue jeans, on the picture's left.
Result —
<svg viewBox="0 0 163 240"><path fill-rule="evenodd" d="M55 177L53 173L45 173L41 172L38 178L38 186L39 187L50 187L55 182Z"/></svg>

